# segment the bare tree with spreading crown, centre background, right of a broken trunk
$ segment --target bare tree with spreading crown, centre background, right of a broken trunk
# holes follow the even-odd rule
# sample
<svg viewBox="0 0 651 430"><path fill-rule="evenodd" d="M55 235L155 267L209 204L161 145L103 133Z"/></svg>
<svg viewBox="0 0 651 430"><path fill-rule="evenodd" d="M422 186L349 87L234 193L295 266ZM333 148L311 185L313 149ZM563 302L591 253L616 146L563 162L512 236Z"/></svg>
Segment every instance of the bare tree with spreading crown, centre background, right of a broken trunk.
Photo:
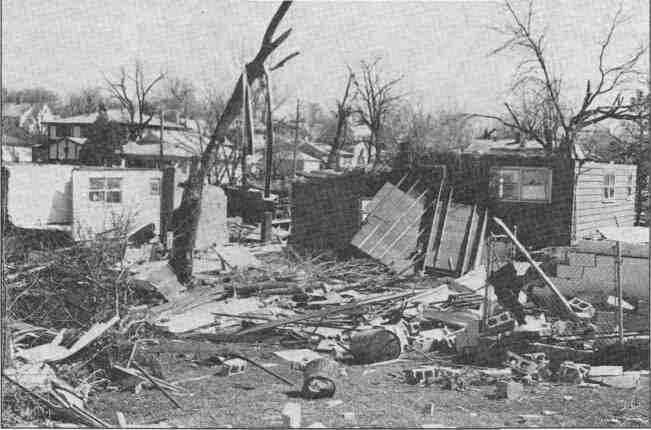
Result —
<svg viewBox="0 0 651 430"><path fill-rule="evenodd" d="M379 161L380 151L383 148L381 133L384 120L402 97L395 93L396 85L402 80L402 76L384 81L378 70L380 60L381 58L378 57L371 63L362 61L360 78L357 78L358 75L353 77L360 100L355 113L359 116L360 122L371 131L370 146L375 149L375 163ZM371 161L370 151L368 161Z"/></svg>

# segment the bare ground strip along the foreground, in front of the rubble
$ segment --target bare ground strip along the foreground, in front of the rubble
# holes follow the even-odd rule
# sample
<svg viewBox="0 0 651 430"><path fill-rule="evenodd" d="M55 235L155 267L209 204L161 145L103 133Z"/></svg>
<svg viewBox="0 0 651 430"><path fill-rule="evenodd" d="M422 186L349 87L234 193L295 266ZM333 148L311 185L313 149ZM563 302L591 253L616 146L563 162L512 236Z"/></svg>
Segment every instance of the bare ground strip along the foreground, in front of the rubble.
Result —
<svg viewBox="0 0 651 430"><path fill-rule="evenodd" d="M228 348L226 348L228 347ZM272 354L289 345L217 345L200 341L161 341L149 348L158 356L170 381L210 375L180 382L192 394L177 397L177 409L160 392L143 389L139 394L104 391L88 408L117 424L115 411L129 424L165 422L178 427L282 427L281 411L287 402L302 408L302 426L319 422L326 427L638 427L649 426L649 379L642 377L635 390L580 388L576 385L541 383L525 386L518 400L492 398L494 385L470 386L465 391L444 390L438 385L409 385L403 370L417 366L405 361L386 366L344 366L347 376L332 399L304 400L298 396L302 375ZM210 355L231 349L268 365L296 387L249 366L243 374L218 376L220 366L198 364ZM332 400L341 400L332 405ZM350 414L352 413L352 414ZM531 415L521 417L522 415Z"/></svg>

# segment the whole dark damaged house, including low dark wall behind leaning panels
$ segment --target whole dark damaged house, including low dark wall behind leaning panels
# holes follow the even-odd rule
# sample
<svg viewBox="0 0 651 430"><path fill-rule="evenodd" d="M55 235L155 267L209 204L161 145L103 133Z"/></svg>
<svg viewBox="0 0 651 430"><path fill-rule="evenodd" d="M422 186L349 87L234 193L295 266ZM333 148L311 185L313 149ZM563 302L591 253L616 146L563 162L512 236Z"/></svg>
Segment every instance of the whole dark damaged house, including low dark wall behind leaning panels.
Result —
<svg viewBox="0 0 651 430"><path fill-rule="evenodd" d="M440 166L446 168L455 202L488 209L531 248L570 245L601 228L634 224L636 166L599 162L581 151L571 159L549 156L534 142L522 147L512 141L475 140L461 153L436 153L390 174L295 184L292 240L344 249L362 224L363 202L385 180L396 184L407 172L429 180L435 191L439 183L432 177Z"/></svg>

